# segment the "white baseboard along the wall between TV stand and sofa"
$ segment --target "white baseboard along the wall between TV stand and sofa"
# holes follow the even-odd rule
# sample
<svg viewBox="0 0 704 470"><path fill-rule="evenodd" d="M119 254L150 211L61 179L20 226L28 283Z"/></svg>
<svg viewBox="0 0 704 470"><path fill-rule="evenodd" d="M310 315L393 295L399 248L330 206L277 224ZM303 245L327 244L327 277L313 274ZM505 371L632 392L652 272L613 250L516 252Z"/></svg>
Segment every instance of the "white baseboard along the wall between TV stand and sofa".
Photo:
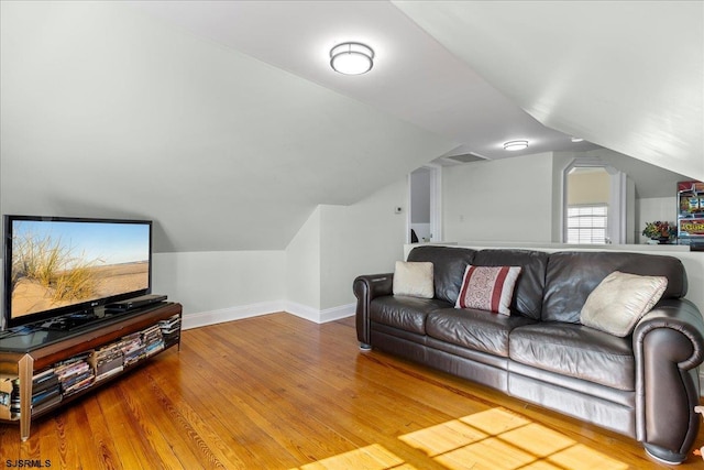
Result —
<svg viewBox="0 0 704 470"><path fill-rule="evenodd" d="M307 305L296 304L295 302L278 300L221 308L219 310L211 311L200 311L196 314L184 313L183 329L241 320L243 318L275 314L277 311L286 311L309 321L324 324L327 321L334 321L341 318L351 317L354 315L355 304L341 305L339 307L318 310L316 308L308 307Z"/></svg>

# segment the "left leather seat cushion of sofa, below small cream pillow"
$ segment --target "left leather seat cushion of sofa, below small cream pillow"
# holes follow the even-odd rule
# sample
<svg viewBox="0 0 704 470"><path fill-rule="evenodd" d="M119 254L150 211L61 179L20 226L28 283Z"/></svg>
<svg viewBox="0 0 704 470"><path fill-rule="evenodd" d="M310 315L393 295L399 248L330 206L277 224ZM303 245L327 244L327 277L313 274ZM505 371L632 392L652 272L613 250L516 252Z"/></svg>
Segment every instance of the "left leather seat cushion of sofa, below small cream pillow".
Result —
<svg viewBox="0 0 704 470"><path fill-rule="evenodd" d="M385 295L371 302L370 319L394 328L425 335L428 311L448 307L451 305L435 298Z"/></svg>

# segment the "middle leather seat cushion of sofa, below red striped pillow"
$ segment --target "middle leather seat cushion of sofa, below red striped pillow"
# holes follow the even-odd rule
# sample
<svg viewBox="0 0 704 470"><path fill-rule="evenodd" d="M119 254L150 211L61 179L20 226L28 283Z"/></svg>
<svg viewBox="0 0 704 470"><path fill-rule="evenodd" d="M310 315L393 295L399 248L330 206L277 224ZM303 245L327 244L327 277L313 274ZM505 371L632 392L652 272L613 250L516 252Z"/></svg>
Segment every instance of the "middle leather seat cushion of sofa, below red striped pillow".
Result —
<svg viewBox="0 0 704 470"><path fill-rule="evenodd" d="M516 327L534 321L522 316L450 308L430 311L426 319L426 331L429 337L441 341L507 358L508 334Z"/></svg>

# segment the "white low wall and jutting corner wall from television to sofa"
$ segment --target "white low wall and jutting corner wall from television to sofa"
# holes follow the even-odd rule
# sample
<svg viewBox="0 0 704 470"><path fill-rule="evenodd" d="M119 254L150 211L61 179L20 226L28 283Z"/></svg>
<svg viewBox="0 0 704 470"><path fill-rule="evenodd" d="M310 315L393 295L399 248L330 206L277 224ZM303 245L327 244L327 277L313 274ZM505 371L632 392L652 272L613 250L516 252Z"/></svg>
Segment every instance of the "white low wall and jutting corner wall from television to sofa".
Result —
<svg viewBox="0 0 704 470"><path fill-rule="evenodd" d="M407 195L404 177L356 204L318 206L286 250L154 253L153 292L183 304L185 328L282 310L350 316L354 277L403 259Z"/></svg>

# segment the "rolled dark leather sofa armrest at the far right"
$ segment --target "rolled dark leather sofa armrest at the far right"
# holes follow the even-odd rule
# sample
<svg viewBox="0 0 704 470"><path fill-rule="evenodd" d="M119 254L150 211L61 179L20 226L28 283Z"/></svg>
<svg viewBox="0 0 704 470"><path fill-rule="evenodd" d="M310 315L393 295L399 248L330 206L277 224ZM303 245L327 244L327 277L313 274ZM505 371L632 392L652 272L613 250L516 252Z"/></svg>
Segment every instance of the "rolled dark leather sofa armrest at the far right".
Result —
<svg viewBox="0 0 704 470"><path fill-rule="evenodd" d="M698 431L704 318L686 299L661 300L636 325L636 438L656 457L686 457Z"/></svg>

